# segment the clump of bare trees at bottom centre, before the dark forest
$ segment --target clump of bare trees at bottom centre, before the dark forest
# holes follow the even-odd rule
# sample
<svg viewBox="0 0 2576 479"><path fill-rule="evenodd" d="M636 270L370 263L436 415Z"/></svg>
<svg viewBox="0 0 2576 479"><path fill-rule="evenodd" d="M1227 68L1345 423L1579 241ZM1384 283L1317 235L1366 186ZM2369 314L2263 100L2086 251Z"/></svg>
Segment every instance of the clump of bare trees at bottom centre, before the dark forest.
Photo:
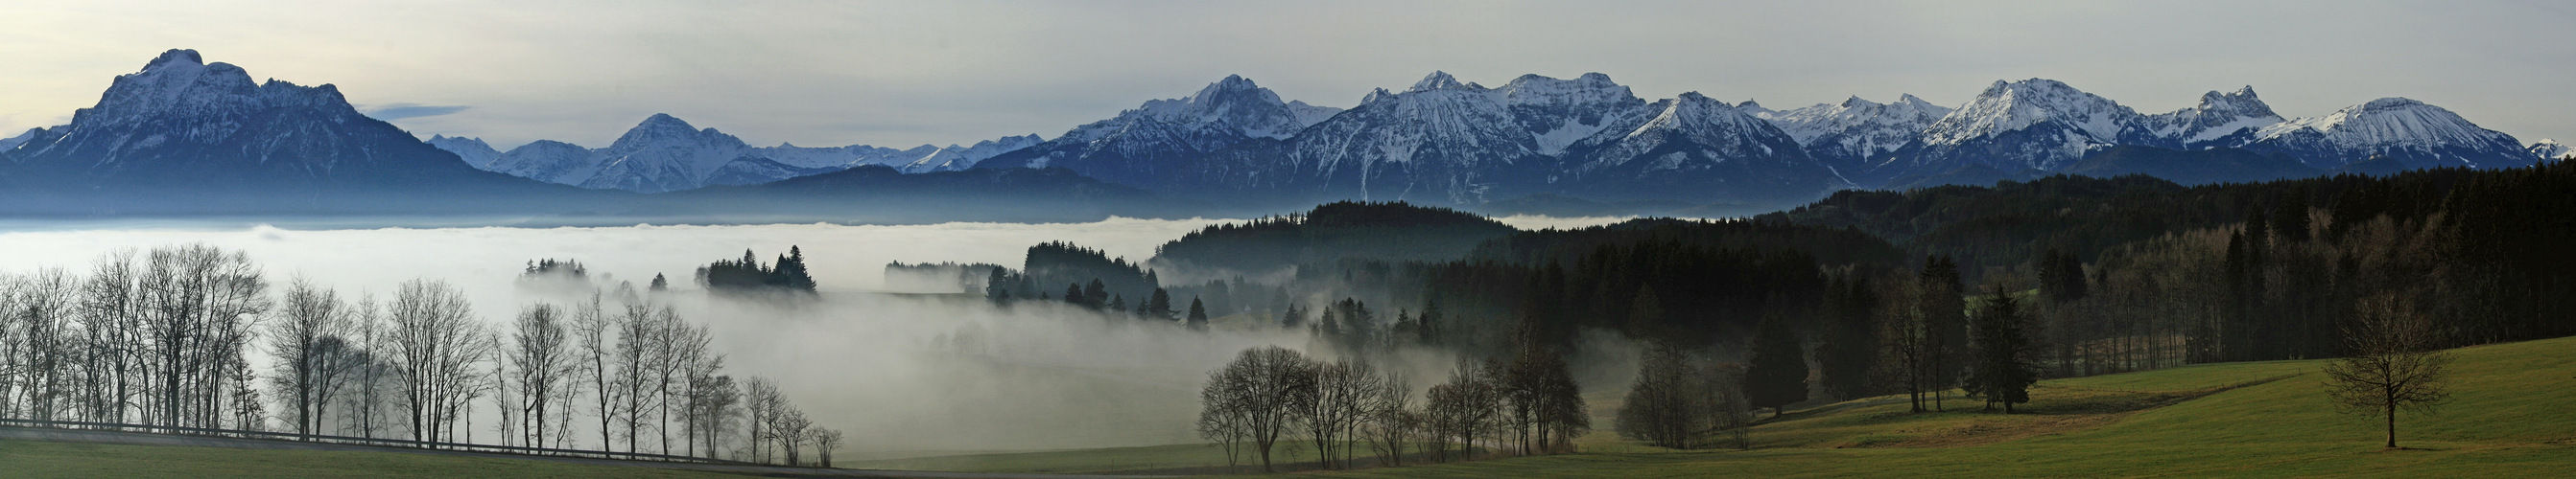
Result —
<svg viewBox="0 0 2576 479"><path fill-rule="evenodd" d="M1226 451L1229 469L1311 446L1316 466L1352 469L1368 448L1381 466L1406 456L1466 461L1497 453L1561 453L1592 420L1561 355L1533 348L1512 361L1461 361L1414 402L1414 386L1365 358L1309 358L1252 348L1208 373L1198 433Z"/></svg>

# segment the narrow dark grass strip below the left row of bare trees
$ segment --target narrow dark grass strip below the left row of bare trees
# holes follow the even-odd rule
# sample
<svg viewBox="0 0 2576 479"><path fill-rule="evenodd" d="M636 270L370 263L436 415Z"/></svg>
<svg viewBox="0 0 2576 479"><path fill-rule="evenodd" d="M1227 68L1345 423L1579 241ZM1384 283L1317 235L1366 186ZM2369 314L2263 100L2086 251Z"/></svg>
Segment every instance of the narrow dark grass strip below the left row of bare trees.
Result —
<svg viewBox="0 0 2576 479"><path fill-rule="evenodd" d="M376 451L0 440L0 476L729 476L647 466Z"/></svg>

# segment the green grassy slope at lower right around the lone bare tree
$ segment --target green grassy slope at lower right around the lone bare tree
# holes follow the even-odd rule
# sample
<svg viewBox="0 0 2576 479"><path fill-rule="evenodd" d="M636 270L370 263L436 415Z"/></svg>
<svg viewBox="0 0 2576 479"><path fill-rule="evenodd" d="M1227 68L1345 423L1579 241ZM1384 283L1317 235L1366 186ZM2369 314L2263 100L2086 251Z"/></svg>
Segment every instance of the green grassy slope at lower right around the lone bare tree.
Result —
<svg viewBox="0 0 2576 479"><path fill-rule="evenodd" d="M2380 422L2339 415L2316 366L2272 361L2043 381L2030 415L1906 415L1844 402L1754 427L1757 451L1589 453L1319 476L2548 476L2576 474L2576 337L2458 350L2452 404Z"/></svg>

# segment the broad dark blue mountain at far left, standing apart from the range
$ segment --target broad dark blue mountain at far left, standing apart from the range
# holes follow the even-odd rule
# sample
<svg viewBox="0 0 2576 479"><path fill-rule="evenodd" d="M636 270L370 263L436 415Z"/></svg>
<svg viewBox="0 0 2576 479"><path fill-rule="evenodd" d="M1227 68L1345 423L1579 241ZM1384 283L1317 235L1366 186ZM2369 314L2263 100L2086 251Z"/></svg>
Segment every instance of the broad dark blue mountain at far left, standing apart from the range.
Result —
<svg viewBox="0 0 2576 479"><path fill-rule="evenodd" d="M8 149L15 214L433 211L554 188L474 170L368 118L332 85L252 82L173 49L118 75L72 124ZM422 201L435 198L435 201Z"/></svg>

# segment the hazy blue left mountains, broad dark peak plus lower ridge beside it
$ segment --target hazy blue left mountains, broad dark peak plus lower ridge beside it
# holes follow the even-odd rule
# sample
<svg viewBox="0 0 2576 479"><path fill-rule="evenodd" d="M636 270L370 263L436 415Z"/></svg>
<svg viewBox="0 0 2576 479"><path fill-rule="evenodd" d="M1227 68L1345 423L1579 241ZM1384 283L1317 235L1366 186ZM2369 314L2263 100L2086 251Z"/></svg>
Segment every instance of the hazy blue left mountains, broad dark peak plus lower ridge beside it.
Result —
<svg viewBox="0 0 2576 479"><path fill-rule="evenodd" d="M1005 147L987 142L979 152L945 152ZM332 85L252 82L242 67L173 49L139 72L118 75L98 106L80 108L70 124L0 142L0 216L250 214L260 221L355 216L374 224L417 214L502 224L726 224L1200 214L1185 211L1193 203L1066 170L958 170L963 160L948 157L948 170L907 175L891 165L832 165L837 152L775 155L786 162L757 152L796 149L752 149L670 116L647 118L605 149L533 142L495 152L482 139L422 142L358 113ZM608 191L489 173L471 165L477 160L523 175L587 178L582 183ZM806 167L817 162L824 167Z"/></svg>

